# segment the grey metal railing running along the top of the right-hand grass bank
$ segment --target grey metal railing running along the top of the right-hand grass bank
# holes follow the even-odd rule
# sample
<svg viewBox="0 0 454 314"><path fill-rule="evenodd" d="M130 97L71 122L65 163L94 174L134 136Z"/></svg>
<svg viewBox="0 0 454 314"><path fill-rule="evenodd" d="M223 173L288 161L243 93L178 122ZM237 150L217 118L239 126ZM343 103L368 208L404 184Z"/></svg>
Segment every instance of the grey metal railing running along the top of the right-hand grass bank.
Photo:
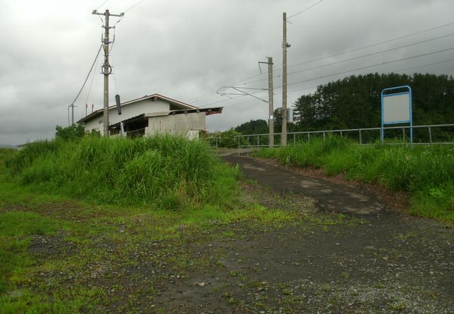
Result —
<svg viewBox="0 0 454 314"><path fill-rule="evenodd" d="M376 143L377 140L381 140L381 133L386 134L386 131L390 130L402 130L402 142L386 142L381 140L382 144L395 144L395 145L402 145L402 144L410 144L409 142L409 137L406 135L406 130L413 129L413 130L418 130L418 129L427 129L427 137L425 137L428 142L423 141L423 137L421 134L416 134L413 135L413 144L415 145L432 145L432 144L454 144L453 138L454 135L451 135L451 139L448 141L437 141L437 139L434 139L433 136L433 130L437 128L453 128L453 133L454 133L454 124L431 124L431 125L426 125L426 126L388 126L384 128L352 128L352 129L344 129L344 130L318 130L318 131L302 131L302 132L288 132L288 133L273 133L273 134L268 134L268 133L263 133L263 134L251 134L251 135L235 135L235 141L237 142L237 148L251 148L251 147L256 147L261 148L261 147L270 147L269 144L262 144L265 139L265 142L269 142L269 137L270 136L279 136L285 135L287 136L287 142L289 142L289 136L293 136L293 144L297 144L297 142L307 142L309 143L311 141L312 137L322 137L323 140L326 139L328 135L332 134L338 134L341 137L348 136L349 138L352 139L357 139L358 144L360 145L369 145L369 144L374 144ZM377 132L378 131L378 132ZM376 132L377 134L372 137L374 140L370 140L371 136L369 135L367 138L369 141L365 140L364 135L365 133L370 133L370 132ZM395 140L397 137L393 136L393 140ZM245 139L245 140L242 140ZM251 142L251 139L253 142ZM419 140L419 141L418 141ZM277 141L274 141L276 143ZM290 139L291 142L291 139ZM274 144L273 147L279 147L281 144L277 143Z"/></svg>

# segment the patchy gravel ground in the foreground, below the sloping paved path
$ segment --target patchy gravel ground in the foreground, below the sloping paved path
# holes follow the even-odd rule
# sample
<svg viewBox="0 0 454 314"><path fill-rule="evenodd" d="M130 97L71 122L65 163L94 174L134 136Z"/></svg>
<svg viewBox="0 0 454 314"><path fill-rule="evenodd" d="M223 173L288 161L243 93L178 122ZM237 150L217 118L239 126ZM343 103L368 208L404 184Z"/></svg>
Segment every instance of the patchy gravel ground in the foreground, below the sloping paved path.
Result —
<svg viewBox="0 0 454 314"><path fill-rule="evenodd" d="M86 264L43 266L27 289L96 288L105 295L98 313L454 313L453 229L389 204L358 216L251 181L242 190L246 201L294 219L214 222L187 233L182 225L182 237L162 241L119 221L109 226L118 229L115 239L87 239L83 247L64 234L36 236L29 253L38 269L79 255ZM70 209L67 218L80 219Z"/></svg>

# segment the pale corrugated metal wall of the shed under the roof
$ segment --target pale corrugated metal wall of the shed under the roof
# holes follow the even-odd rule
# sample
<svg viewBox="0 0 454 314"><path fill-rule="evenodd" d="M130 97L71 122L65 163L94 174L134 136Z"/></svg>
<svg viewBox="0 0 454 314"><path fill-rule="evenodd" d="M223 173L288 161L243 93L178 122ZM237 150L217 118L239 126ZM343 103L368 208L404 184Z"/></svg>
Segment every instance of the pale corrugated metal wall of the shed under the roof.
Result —
<svg viewBox="0 0 454 314"><path fill-rule="evenodd" d="M205 112L148 117L147 135L156 133L187 135L189 130L205 130Z"/></svg>

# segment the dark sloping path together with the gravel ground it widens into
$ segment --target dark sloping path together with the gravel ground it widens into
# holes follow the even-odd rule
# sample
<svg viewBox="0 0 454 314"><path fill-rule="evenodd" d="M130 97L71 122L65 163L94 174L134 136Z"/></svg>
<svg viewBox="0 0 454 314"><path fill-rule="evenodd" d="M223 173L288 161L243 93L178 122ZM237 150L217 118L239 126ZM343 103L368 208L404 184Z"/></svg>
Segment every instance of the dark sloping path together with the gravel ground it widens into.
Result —
<svg viewBox="0 0 454 314"><path fill-rule="evenodd" d="M263 195L270 208L277 197L295 204L305 193L318 207L348 214L323 210L277 230L231 225L234 237L196 242L192 254L215 262L163 285L161 306L185 313L454 313L453 230L389 211L358 188L224 158L281 190Z"/></svg>

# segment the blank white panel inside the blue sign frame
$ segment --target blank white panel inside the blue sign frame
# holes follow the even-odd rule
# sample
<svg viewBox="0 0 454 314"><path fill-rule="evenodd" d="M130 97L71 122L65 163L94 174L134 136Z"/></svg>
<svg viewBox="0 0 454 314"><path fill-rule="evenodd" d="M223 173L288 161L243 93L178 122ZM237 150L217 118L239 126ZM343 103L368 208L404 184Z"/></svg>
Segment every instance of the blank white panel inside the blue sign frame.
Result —
<svg viewBox="0 0 454 314"><path fill-rule="evenodd" d="M410 94L383 97L383 124L410 121Z"/></svg>

